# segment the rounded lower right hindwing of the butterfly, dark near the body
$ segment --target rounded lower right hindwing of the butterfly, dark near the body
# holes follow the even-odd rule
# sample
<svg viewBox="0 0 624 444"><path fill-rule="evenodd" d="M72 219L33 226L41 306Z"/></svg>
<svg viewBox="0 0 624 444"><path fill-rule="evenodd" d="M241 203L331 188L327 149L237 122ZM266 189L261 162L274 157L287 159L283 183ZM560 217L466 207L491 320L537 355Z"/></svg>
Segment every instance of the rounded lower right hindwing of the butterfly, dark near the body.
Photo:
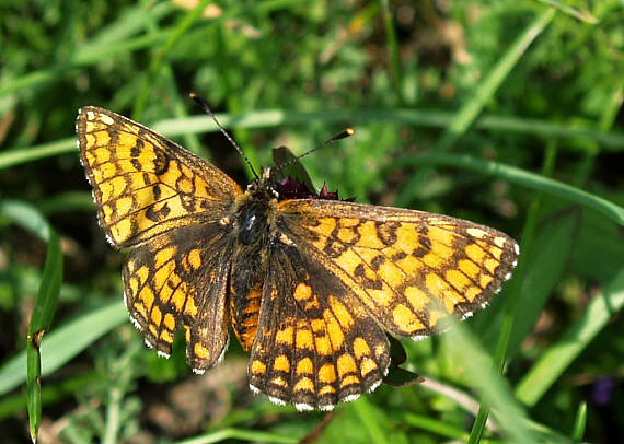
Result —
<svg viewBox="0 0 624 444"><path fill-rule="evenodd" d="M373 390L390 363L382 328L298 246L275 244L267 260L250 388L298 410L331 410Z"/></svg>

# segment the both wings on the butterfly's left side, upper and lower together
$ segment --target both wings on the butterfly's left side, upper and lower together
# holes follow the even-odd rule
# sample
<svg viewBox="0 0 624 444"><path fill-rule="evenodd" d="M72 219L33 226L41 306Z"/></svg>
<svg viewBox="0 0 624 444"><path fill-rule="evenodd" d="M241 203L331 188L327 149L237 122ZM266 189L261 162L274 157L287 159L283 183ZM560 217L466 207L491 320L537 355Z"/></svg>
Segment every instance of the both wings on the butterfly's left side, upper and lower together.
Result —
<svg viewBox="0 0 624 444"><path fill-rule="evenodd" d="M126 306L146 343L169 355L184 327L196 372L228 343L233 238L222 224L239 186L176 143L106 109L80 109L78 145L100 224L124 265Z"/></svg>

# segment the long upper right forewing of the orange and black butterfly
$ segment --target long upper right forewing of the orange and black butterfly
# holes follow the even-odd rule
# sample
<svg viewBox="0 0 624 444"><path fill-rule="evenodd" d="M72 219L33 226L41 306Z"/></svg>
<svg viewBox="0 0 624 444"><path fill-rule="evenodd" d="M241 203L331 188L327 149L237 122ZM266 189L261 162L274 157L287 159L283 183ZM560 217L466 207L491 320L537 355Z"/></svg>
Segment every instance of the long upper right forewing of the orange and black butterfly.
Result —
<svg viewBox="0 0 624 444"><path fill-rule="evenodd" d="M345 201L285 200L278 230L350 289L385 329L430 335L470 316L511 276L519 248L494 229L444 215Z"/></svg>

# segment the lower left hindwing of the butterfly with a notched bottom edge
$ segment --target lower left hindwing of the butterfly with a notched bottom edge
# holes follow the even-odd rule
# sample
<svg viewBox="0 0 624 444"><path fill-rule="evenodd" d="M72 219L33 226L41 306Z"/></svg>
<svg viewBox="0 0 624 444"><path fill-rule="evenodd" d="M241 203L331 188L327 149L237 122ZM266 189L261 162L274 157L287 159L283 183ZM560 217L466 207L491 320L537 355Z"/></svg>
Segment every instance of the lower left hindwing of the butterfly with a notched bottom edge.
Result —
<svg viewBox="0 0 624 444"><path fill-rule="evenodd" d="M232 236L218 222L180 227L131 249L125 301L146 343L169 357L175 331L186 334L196 373L217 364L228 344Z"/></svg>

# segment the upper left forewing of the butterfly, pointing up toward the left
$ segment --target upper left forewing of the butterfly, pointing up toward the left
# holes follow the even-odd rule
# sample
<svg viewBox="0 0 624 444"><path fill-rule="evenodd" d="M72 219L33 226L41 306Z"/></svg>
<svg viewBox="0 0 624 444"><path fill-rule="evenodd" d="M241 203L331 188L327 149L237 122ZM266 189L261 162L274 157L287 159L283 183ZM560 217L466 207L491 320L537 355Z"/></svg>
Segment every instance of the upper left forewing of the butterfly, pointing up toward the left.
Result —
<svg viewBox="0 0 624 444"><path fill-rule="evenodd" d="M83 107L76 127L100 224L116 247L218 220L242 195L219 168L115 113Z"/></svg>

